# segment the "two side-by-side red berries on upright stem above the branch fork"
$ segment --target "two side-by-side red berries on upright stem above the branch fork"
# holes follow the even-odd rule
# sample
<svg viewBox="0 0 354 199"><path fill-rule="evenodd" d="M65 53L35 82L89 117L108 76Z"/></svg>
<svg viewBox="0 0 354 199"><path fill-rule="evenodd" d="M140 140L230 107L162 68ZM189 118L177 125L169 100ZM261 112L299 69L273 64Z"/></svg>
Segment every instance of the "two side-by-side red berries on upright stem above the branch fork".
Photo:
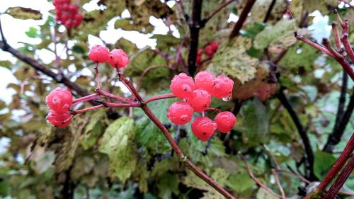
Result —
<svg viewBox="0 0 354 199"><path fill-rule="evenodd" d="M119 69L129 64L129 57L121 49L113 49L109 52L107 47L94 45L89 51L89 58L96 63L108 62L111 67Z"/></svg>

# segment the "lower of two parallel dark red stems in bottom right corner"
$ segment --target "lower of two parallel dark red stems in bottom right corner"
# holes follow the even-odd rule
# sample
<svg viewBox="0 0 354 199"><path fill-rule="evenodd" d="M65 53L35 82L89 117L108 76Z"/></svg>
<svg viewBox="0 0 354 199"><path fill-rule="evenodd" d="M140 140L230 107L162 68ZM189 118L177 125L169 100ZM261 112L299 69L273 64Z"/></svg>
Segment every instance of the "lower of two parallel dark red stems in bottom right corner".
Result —
<svg viewBox="0 0 354 199"><path fill-rule="evenodd" d="M338 178L336 181L334 181L333 185L331 188L329 188L329 191L324 195L324 199L331 199L335 198L337 193L341 190L343 187L344 183L350 176L350 174L353 172L354 169L354 158L352 157L346 167L344 167L343 171L341 174L339 174Z"/></svg>

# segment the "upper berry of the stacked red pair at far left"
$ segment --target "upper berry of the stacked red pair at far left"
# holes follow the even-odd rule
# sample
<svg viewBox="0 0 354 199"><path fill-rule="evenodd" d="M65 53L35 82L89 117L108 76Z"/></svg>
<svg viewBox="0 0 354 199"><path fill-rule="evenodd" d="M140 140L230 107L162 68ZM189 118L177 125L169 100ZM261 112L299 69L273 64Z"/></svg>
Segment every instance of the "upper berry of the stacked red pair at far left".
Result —
<svg viewBox="0 0 354 199"><path fill-rule="evenodd" d="M45 97L47 106L56 113L66 113L68 108L72 106L72 93L66 89L58 87Z"/></svg>

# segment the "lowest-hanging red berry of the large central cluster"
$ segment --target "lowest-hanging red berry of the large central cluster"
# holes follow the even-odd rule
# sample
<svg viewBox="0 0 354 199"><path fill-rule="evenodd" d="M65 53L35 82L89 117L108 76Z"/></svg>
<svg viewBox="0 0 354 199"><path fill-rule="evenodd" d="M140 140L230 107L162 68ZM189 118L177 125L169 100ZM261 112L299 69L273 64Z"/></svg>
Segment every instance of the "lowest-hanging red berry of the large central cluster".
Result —
<svg viewBox="0 0 354 199"><path fill-rule="evenodd" d="M193 134L205 142L214 134L217 123L207 117L199 117L193 121L191 127Z"/></svg>

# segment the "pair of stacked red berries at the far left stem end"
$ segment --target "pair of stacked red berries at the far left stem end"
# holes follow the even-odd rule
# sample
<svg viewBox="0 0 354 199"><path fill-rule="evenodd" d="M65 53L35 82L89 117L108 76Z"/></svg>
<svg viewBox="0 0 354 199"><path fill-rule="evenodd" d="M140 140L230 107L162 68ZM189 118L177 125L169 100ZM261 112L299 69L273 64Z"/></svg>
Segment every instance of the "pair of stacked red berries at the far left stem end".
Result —
<svg viewBox="0 0 354 199"><path fill-rule="evenodd" d="M72 106L72 93L58 87L45 97L50 112L47 121L57 127L66 127L72 122L72 115L69 108Z"/></svg>

